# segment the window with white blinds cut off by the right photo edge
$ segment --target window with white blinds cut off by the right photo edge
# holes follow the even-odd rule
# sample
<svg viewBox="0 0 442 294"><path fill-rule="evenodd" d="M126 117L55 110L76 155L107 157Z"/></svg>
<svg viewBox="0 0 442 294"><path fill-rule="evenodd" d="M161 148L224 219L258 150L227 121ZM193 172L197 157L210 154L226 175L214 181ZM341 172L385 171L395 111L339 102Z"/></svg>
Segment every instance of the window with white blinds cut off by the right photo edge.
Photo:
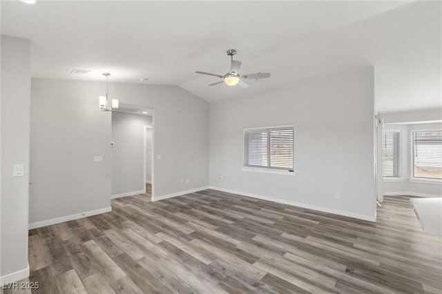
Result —
<svg viewBox="0 0 442 294"><path fill-rule="evenodd" d="M414 178L442 179L442 131L413 132Z"/></svg>

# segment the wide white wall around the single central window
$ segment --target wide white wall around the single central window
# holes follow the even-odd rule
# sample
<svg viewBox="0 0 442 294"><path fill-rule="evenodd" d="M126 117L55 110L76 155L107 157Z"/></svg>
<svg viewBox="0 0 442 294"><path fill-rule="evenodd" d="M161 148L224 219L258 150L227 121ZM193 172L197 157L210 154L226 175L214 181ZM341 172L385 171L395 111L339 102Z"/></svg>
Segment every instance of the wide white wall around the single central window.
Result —
<svg viewBox="0 0 442 294"><path fill-rule="evenodd" d="M287 124L296 175L242 171L243 129ZM374 220L373 71L211 103L210 185Z"/></svg>

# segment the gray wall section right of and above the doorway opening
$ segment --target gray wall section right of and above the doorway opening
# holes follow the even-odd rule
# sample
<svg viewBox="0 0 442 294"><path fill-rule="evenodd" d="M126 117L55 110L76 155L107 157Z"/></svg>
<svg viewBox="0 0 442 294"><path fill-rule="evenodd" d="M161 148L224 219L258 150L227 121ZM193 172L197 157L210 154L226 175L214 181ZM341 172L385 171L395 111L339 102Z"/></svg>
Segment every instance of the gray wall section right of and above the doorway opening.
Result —
<svg viewBox="0 0 442 294"><path fill-rule="evenodd" d="M109 92L122 103L154 108L155 200L209 185L207 101L165 85L115 83ZM181 182L182 178L189 182Z"/></svg>

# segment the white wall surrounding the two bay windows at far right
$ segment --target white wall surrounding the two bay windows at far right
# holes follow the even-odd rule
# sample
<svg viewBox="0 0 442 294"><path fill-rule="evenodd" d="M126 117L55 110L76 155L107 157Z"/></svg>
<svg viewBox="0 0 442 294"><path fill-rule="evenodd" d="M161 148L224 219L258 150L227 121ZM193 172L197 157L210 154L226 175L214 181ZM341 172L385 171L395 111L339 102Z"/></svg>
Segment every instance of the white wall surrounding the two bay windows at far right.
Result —
<svg viewBox="0 0 442 294"><path fill-rule="evenodd" d="M398 114L394 114L398 116ZM385 118L389 118L385 114ZM390 119L390 118L389 118ZM405 116L407 121L412 118ZM430 120L427 117L419 116L419 120ZM432 120L432 119L431 119ZM425 124L385 124L384 131L399 131L399 178L385 179L383 183L384 195L411 195L411 196L442 196L441 182L413 182L412 178L412 136L411 133L416 130L442 129L441 123L425 123Z"/></svg>

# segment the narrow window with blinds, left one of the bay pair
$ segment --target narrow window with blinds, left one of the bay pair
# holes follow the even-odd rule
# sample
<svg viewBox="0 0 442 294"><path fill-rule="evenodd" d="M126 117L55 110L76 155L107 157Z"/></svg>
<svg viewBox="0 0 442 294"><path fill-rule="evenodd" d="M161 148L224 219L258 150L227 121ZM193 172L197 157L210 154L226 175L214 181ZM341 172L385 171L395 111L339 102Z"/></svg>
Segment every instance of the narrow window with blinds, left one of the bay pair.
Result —
<svg viewBox="0 0 442 294"><path fill-rule="evenodd" d="M383 132L382 160L384 178L399 177L399 132Z"/></svg>

